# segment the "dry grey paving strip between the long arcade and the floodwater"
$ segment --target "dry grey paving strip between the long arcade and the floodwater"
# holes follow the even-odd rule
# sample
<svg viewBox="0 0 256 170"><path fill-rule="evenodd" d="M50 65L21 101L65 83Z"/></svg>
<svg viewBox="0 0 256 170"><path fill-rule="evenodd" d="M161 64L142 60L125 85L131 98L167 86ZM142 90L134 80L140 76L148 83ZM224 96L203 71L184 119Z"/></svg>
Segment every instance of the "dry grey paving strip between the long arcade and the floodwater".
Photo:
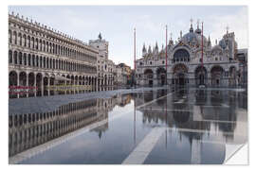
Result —
<svg viewBox="0 0 256 170"><path fill-rule="evenodd" d="M77 93L65 95L51 95L42 97L13 98L9 99L9 115L24 114L35 112L47 112L56 110L58 107L72 102L84 101L95 98L110 98L116 94L124 93L143 93L146 91L156 91L166 89L158 88L137 88L137 89L120 89L115 91L101 91L92 93Z"/></svg>

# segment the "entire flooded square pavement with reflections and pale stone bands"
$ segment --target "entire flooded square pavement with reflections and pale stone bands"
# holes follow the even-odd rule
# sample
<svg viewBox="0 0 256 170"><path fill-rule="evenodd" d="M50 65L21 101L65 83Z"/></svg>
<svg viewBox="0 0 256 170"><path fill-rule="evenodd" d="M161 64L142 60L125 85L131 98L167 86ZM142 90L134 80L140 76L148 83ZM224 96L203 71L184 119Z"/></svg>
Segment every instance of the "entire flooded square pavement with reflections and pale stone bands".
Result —
<svg viewBox="0 0 256 170"><path fill-rule="evenodd" d="M222 164L247 144L244 89L85 95L10 99L9 163Z"/></svg>

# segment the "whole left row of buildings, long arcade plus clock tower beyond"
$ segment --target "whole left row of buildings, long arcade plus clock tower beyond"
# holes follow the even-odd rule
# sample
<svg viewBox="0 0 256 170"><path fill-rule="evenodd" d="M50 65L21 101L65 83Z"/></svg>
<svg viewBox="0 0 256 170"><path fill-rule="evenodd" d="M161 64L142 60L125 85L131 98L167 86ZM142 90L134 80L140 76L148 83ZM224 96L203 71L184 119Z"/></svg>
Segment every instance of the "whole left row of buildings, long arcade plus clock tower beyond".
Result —
<svg viewBox="0 0 256 170"><path fill-rule="evenodd" d="M109 42L72 38L9 14L10 98L111 90L126 81L108 57ZM121 76L120 76L121 75Z"/></svg>

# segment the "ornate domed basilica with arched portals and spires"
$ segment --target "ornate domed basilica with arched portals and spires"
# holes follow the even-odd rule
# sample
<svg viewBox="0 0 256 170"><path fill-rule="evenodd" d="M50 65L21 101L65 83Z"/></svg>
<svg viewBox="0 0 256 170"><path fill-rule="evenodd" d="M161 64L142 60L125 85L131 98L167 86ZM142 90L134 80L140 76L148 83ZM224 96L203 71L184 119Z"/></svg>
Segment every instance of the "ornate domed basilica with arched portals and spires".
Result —
<svg viewBox="0 0 256 170"><path fill-rule="evenodd" d="M142 58L136 60L137 84L142 86L236 87L247 85L247 49L238 49L235 33L227 32L215 44L202 29L192 26L176 42L172 37L167 47L158 49L143 45ZM167 59L166 59L167 51ZM167 63L166 63L167 61ZM167 70L167 72L166 72ZM167 78L166 78L167 77Z"/></svg>

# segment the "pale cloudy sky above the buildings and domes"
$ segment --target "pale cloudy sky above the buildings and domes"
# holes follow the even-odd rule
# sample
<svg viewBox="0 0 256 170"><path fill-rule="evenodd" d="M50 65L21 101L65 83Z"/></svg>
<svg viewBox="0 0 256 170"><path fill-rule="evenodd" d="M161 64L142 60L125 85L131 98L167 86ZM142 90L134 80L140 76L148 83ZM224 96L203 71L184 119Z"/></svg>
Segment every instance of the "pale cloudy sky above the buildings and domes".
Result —
<svg viewBox="0 0 256 170"><path fill-rule="evenodd" d="M9 6L9 12L50 26L83 42L102 39L109 42L109 59L133 68L134 27L137 29L137 59L146 47L165 43L165 26L173 40L189 32L190 20L204 22L204 35L211 44L220 41L229 26L238 48L247 48L246 6Z"/></svg>

